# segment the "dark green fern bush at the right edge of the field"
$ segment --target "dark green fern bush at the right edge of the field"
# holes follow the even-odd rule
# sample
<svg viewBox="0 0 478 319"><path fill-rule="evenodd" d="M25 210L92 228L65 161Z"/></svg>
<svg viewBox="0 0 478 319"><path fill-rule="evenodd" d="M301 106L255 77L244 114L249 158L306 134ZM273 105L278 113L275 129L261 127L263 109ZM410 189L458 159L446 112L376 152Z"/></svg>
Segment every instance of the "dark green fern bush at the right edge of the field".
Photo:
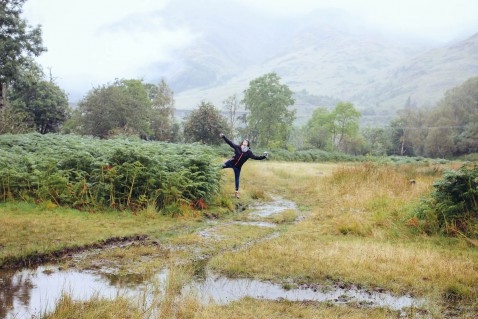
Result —
<svg viewBox="0 0 478 319"><path fill-rule="evenodd" d="M417 209L418 217L447 234L476 236L478 220L478 165L446 171L435 190Z"/></svg>

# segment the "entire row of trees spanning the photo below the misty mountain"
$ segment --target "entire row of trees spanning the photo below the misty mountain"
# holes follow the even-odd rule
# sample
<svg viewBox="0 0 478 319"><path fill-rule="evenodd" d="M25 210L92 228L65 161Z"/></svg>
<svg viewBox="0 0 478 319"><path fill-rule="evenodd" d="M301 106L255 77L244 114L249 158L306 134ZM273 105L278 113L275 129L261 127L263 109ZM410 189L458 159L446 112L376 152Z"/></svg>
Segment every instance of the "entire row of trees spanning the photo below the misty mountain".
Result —
<svg viewBox="0 0 478 319"><path fill-rule="evenodd" d="M157 84L116 79L93 88L73 109L53 76L33 61L46 48L40 26L28 26L20 17L24 2L0 4L0 134L134 135L218 144L223 132L261 148L441 158L478 153L478 77L448 91L433 107L408 101L383 127L361 128L361 113L347 101L317 106L306 124L295 126L294 92L276 73L253 79L242 99L234 94L222 109L199 102L182 121L164 79Z"/></svg>

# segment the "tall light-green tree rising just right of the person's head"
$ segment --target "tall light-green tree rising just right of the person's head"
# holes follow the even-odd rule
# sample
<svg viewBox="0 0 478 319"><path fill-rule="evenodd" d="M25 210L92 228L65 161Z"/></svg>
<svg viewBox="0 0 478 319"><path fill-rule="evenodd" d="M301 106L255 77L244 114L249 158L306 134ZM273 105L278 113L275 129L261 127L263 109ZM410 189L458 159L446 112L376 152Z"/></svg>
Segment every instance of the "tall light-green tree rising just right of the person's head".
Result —
<svg viewBox="0 0 478 319"><path fill-rule="evenodd" d="M251 142L262 147L279 146L287 142L295 119L292 91L280 83L276 73L252 80L242 100L246 110L247 131Z"/></svg>

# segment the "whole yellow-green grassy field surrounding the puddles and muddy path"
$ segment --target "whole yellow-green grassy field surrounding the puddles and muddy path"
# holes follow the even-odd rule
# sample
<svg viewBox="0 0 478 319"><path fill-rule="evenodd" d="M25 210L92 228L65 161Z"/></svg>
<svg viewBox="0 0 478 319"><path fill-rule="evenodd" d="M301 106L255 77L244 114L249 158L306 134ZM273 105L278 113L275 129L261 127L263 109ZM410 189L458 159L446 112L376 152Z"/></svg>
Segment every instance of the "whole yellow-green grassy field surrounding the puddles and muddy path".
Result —
<svg viewBox="0 0 478 319"><path fill-rule="evenodd" d="M212 256L209 266L229 277L310 285L341 283L396 295L412 294L426 298L431 313L409 313L409 317L444 318L451 316L450 309L461 309L453 316L473 318L478 312L476 245L462 237L427 234L413 213L444 170L457 167L459 164L248 162L241 176L241 202L267 200L269 194L275 194L294 201L305 219L287 224L295 215L275 217L275 222L287 224L281 226L280 236L239 250L233 248L267 236L270 230L227 224L241 217L226 214L219 220L224 225L216 231L224 240L210 244L198 236L197 231L206 224L197 216L169 218L151 211L91 214L3 204L0 260L8 265L39 252L146 234L160 244L201 248L202 253ZM233 174L227 170L222 174L223 194L218 203L232 206ZM181 250L165 258L186 260L192 255ZM194 295L181 296L177 287L182 284L181 280L169 283L173 287L169 298L158 302L155 312L149 314L157 318L399 316L386 309L326 303L244 299L228 305L203 305ZM65 296L47 318L96 318L100 310L104 311L103 318L118 318L117 314L122 314L121 318L145 318L146 312L121 298L79 302Z"/></svg>

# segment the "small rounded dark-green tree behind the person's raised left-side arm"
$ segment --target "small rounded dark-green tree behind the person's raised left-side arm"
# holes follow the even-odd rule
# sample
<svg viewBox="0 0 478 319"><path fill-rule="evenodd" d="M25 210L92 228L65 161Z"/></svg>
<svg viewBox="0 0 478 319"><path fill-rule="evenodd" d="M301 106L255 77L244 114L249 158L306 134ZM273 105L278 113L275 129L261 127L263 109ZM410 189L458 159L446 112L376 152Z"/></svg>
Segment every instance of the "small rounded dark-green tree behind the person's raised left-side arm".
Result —
<svg viewBox="0 0 478 319"><path fill-rule="evenodd" d="M230 127L212 103L201 102L184 121L184 137L188 142L220 144L219 133L229 134Z"/></svg>

